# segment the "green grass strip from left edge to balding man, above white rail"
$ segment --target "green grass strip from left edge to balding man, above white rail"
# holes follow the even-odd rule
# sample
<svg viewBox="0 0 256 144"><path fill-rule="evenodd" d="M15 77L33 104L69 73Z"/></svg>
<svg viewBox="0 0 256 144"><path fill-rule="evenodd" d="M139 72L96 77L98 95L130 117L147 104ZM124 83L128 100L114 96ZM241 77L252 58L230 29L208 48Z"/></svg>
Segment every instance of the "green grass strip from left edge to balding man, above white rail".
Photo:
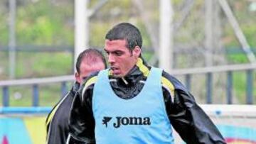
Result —
<svg viewBox="0 0 256 144"><path fill-rule="evenodd" d="M9 79L8 52L0 52L0 79ZM15 78L54 77L73 74L70 52L17 52Z"/></svg>

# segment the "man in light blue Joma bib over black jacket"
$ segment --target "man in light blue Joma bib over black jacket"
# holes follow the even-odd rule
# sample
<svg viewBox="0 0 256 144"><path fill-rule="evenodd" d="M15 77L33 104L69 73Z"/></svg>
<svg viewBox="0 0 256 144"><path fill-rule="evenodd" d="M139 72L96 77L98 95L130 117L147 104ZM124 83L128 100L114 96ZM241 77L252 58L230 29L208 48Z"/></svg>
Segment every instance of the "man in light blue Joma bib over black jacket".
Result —
<svg viewBox="0 0 256 144"><path fill-rule="evenodd" d="M171 128L186 143L225 143L183 84L146 65L142 35L119 23L105 37L110 69L87 78L70 113L73 143L174 143Z"/></svg>

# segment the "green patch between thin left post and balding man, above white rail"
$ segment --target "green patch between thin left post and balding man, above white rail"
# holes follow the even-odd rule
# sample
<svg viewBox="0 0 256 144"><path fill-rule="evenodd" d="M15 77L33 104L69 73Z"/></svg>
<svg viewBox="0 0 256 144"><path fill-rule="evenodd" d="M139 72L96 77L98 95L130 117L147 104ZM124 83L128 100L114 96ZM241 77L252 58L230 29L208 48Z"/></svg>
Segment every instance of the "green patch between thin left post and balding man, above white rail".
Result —
<svg viewBox="0 0 256 144"><path fill-rule="evenodd" d="M19 52L16 64L16 77L51 77L73 72L71 53ZM26 59L24 59L26 57Z"/></svg>

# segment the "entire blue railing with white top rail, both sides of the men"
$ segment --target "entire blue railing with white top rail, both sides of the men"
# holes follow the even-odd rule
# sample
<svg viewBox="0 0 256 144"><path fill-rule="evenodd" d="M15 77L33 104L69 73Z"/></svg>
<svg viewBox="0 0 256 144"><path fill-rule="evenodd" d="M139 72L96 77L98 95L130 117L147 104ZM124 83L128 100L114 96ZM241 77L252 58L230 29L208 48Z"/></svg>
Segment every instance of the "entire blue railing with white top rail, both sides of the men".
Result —
<svg viewBox="0 0 256 144"><path fill-rule="evenodd" d="M228 65L228 66L217 66L217 67L199 67L193 69L173 70L171 74L181 75L185 77L185 86L191 91L191 78L193 74L205 74L206 75L206 104L212 104L213 96L213 74L215 72L226 72L227 84L226 84L226 100L227 104L233 104L233 72L245 71L247 75L246 80L246 104L253 104L253 72L256 70L256 65ZM33 89L33 104L32 106L39 106L39 84L49 84L57 82L61 84L61 94L64 96L68 92L67 82L73 82L73 75L61 76L61 77L48 77L41 79L19 79L0 81L0 87L3 91L2 105L4 107L9 106L9 87L15 85L26 85L29 84Z"/></svg>

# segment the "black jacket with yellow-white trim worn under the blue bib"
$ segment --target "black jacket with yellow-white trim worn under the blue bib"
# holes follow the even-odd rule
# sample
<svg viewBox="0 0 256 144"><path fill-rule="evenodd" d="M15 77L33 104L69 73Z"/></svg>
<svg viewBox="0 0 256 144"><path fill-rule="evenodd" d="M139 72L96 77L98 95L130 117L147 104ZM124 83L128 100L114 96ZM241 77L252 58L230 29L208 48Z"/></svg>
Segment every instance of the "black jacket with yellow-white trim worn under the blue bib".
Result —
<svg viewBox="0 0 256 144"><path fill-rule="evenodd" d="M114 93L122 99L137 96L144 86L150 68L139 58L137 65L123 78L113 77L110 72L110 84ZM79 96L75 97L70 113L70 140L75 141L72 143L95 143L92 93L96 79L97 73L88 77L80 87ZM181 82L163 71L161 84L171 125L186 143L225 143L213 122Z"/></svg>

